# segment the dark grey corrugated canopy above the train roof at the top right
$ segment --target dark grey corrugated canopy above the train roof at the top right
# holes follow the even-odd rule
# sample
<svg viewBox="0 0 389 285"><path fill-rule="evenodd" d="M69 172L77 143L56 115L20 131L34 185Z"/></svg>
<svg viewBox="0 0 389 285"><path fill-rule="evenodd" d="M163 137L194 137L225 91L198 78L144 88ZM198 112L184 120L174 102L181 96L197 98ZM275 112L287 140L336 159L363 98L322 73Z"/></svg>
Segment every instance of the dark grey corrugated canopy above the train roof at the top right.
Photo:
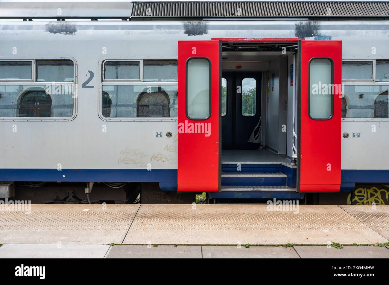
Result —
<svg viewBox="0 0 389 285"><path fill-rule="evenodd" d="M388 17L387 1L133 2L131 17Z"/></svg>

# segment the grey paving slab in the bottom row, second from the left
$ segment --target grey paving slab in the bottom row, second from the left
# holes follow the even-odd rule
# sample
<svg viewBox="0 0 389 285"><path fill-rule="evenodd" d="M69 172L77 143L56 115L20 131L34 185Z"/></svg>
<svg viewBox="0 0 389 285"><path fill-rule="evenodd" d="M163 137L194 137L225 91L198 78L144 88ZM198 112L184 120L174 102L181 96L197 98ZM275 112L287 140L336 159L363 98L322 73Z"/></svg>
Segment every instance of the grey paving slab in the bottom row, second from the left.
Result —
<svg viewBox="0 0 389 285"><path fill-rule="evenodd" d="M105 258L201 258L201 247L193 245L115 245Z"/></svg>

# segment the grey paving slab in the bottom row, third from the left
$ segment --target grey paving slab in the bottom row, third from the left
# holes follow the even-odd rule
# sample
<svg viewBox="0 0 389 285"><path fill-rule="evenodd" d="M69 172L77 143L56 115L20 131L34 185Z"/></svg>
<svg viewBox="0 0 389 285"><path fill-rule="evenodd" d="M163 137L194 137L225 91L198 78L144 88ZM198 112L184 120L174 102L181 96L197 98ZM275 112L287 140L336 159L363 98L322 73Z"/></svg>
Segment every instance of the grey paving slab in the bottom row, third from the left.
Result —
<svg viewBox="0 0 389 285"><path fill-rule="evenodd" d="M203 258L300 258L293 247L203 246Z"/></svg>

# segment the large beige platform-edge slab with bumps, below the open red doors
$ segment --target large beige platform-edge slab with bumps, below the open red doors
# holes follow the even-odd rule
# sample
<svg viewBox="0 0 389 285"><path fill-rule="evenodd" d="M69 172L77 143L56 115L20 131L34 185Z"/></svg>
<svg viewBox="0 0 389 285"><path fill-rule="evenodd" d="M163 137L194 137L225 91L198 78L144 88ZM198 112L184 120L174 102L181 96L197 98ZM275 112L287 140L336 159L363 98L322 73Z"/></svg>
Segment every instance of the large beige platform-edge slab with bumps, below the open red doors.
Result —
<svg viewBox="0 0 389 285"><path fill-rule="evenodd" d="M300 205L268 211L267 205L141 205L124 244L280 245L386 239L337 205Z"/></svg>

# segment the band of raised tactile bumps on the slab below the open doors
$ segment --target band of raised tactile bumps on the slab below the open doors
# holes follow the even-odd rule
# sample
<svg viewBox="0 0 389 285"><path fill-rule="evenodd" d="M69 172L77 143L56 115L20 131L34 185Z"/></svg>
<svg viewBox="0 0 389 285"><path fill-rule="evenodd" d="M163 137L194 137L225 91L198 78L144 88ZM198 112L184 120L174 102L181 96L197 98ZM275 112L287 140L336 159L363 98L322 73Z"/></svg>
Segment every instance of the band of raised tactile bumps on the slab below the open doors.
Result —
<svg viewBox="0 0 389 285"><path fill-rule="evenodd" d="M131 229L138 230L366 230L361 222L342 213L138 213Z"/></svg>

